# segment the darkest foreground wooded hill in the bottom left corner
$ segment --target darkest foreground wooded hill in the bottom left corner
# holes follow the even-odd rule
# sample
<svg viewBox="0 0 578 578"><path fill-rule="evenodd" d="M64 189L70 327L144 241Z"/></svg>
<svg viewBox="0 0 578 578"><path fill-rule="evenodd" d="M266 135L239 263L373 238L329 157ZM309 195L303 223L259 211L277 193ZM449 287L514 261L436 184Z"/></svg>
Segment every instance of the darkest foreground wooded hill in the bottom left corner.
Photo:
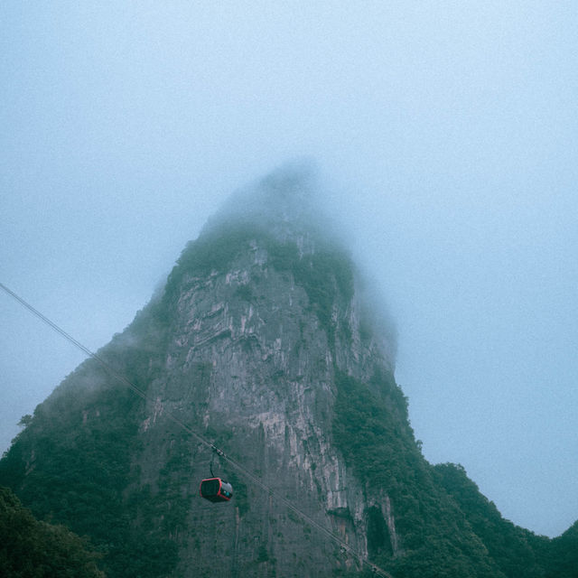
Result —
<svg viewBox="0 0 578 578"><path fill-rule="evenodd" d="M0 576L104 578L97 560L86 540L38 521L10 489L0 487Z"/></svg>

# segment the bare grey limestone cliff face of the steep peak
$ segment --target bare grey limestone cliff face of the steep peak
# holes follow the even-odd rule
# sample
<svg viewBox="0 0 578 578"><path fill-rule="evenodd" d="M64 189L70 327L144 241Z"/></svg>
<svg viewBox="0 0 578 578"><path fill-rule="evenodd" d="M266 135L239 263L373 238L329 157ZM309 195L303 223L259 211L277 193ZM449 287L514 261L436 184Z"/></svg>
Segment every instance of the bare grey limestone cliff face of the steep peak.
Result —
<svg viewBox="0 0 578 578"><path fill-rule="evenodd" d="M253 214L225 228L213 225L217 232L212 228L207 242L223 238L228 249L237 242L238 250L228 252L224 266L210 259L200 272L193 267L173 273L170 298L165 294L170 338L163 371L147 390L154 401L140 424L140 483L154 484L159 468L173 459L168 438L159 445L169 412L208 432L211 442L274 493L217 459L215 475L240 482L241 505L191 499L184 526L194 531L179 538L179 575L322 576L355 567L337 542L277 496L368 554L368 508L377 499L368 498L364 480L331 440L335 371L368 381L376 366L390 371L393 359L385 342L362 334L369 320L362 319L348 257L286 215L266 230ZM247 224L238 235L239 225ZM197 249L193 244L187 250L193 255ZM342 271L332 270L333 263ZM303 281L307 275L312 278ZM211 454L188 443L179 459L186 463L179 468L182 494L191 495L210 475ZM386 508L396 550L395 516L386 504L378 508Z"/></svg>

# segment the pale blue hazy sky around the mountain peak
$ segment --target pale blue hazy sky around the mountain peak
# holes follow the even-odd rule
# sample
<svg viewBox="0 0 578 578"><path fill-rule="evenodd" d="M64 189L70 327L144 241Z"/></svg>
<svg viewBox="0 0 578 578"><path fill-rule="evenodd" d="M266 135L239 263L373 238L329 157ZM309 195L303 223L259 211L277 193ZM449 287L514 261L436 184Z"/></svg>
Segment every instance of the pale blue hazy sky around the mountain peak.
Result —
<svg viewBox="0 0 578 578"><path fill-rule="evenodd" d="M0 282L92 350L231 191L309 156L432 462L578 518L578 4L4 2ZM0 445L83 359L0 294Z"/></svg>

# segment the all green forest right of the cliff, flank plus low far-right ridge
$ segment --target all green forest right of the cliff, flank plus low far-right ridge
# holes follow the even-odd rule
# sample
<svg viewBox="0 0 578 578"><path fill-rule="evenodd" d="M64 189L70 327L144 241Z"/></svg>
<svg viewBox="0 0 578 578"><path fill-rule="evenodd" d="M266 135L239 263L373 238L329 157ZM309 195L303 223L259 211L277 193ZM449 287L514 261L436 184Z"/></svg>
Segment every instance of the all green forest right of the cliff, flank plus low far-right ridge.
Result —
<svg viewBox="0 0 578 578"><path fill-rule="evenodd" d="M578 523L554 540L536 536L501 517L460 465L428 464L396 418L405 398L393 377L363 384L338 372L337 385L335 442L367 488L395 504L398 555L377 509L368 550L396 578L578 577Z"/></svg>

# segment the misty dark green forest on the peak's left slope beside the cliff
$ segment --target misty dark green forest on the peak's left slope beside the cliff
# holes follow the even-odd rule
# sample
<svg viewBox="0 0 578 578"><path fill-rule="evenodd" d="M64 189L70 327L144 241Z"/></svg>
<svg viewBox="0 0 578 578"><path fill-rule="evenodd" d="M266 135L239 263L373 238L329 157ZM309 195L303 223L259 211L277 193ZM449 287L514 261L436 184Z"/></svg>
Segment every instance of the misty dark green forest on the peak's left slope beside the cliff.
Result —
<svg viewBox="0 0 578 578"><path fill-rule="evenodd" d="M0 483L17 489L36 517L90 536L107 574L152 578L176 564L176 548L154 524L162 504L131 486L141 400L126 387L107 385L103 373L86 361L36 408L0 461ZM74 391L72 378L77 385L103 379L105 386ZM140 500L147 508L135 528L132 505Z"/></svg>

